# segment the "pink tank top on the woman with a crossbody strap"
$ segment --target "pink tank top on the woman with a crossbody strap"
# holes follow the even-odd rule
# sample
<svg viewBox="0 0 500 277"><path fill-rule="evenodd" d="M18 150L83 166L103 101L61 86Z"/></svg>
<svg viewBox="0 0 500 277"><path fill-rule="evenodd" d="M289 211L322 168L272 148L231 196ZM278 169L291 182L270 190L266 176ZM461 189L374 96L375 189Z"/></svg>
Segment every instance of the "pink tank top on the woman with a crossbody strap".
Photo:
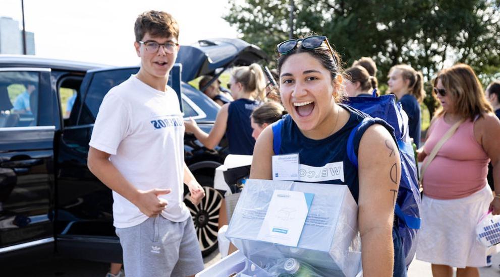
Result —
<svg viewBox="0 0 500 277"><path fill-rule="evenodd" d="M442 116L436 119L429 128L429 138L424 145L425 154L430 154L451 126ZM422 181L424 194L436 199L469 196L486 185L488 163L486 152L474 137L474 122L466 120L425 170Z"/></svg>

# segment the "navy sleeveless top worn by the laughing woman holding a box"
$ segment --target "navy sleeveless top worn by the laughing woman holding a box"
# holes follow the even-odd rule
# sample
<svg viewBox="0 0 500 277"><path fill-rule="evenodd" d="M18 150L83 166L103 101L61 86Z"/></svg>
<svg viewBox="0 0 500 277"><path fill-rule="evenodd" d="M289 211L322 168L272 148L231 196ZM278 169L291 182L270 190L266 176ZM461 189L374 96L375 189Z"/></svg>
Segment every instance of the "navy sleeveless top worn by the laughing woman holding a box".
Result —
<svg viewBox="0 0 500 277"><path fill-rule="evenodd" d="M299 153L299 178L301 182L345 184L349 187L356 203L358 203L358 169L351 163L347 156L347 140L352 129L364 118L369 117L369 115L351 108L350 106L343 104L339 105L350 112L349 120L336 133L322 140L312 140L304 136L291 116L286 116L284 119L281 119L283 120L283 126L281 128L280 151L274 154ZM356 154L358 153L361 136L369 126L369 124L365 124L365 126L362 127L363 131L358 132L359 134L354 137L354 150ZM387 126L389 125L387 124ZM407 276L401 237L394 228L393 243L393 276Z"/></svg>

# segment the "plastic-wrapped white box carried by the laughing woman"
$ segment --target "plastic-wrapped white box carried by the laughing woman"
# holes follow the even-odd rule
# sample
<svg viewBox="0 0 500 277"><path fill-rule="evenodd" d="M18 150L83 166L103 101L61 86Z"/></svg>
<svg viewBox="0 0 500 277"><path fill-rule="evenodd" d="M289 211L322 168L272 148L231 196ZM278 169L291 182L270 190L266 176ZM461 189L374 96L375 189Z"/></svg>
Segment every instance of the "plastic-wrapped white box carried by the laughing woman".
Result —
<svg viewBox="0 0 500 277"><path fill-rule="evenodd" d="M314 194L297 247L257 239L275 189ZM361 270L357 205L346 185L248 179L226 237L265 268L280 258L307 262L325 276L355 276Z"/></svg>

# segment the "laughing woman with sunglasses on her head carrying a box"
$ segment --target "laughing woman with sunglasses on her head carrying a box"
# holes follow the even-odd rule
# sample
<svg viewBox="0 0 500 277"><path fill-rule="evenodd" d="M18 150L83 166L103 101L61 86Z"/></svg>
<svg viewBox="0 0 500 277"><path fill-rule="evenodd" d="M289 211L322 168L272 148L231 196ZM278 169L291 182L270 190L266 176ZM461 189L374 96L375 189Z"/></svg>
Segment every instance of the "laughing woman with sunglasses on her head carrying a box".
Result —
<svg viewBox="0 0 500 277"><path fill-rule="evenodd" d="M342 163L346 180L328 178L321 182L347 185L358 204L363 271L370 276L406 276L401 238L393 228L394 191L399 188L401 162L388 126L341 104L341 59L325 36L287 40L277 50L281 101L290 115L279 121L282 122L279 153L273 150L271 127L259 135L250 178L272 180L273 155L298 153L301 166L318 169ZM347 157L347 140L351 130L365 118L364 122L369 123L356 140L357 169ZM306 175L300 181L318 179Z"/></svg>

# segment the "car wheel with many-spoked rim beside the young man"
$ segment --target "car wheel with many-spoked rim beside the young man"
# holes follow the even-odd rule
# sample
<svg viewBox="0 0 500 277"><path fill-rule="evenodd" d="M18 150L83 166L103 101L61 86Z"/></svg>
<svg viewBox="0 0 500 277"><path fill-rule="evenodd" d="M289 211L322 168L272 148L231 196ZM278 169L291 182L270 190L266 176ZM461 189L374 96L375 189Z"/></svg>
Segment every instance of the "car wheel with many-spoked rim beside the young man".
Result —
<svg viewBox="0 0 500 277"><path fill-rule="evenodd" d="M189 189L184 195L184 203L191 213L196 236L200 244L203 257L210 255L217 249L218 219L221 200L224 198L218 190L213 188L213 177L198 175L196 179L205 190L205 197L198 205L189 200Z"/></svg>

